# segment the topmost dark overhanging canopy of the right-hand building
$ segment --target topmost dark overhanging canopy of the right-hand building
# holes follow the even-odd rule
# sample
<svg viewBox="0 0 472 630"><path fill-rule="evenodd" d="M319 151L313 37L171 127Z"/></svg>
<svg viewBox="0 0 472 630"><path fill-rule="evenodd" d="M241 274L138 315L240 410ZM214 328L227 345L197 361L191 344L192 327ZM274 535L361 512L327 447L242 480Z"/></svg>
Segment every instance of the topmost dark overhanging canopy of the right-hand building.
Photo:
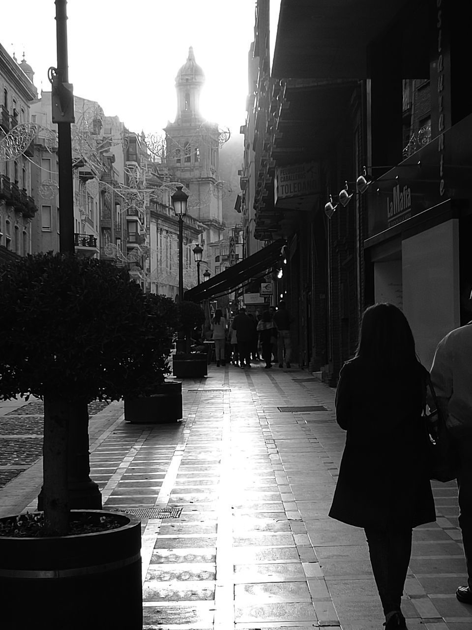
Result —
<svg viewBox="0 0 472 630"><path fill-rule="evenodd" d="M420 78L429 68L430 4L427 0L281 0L272 76L366 79L367 47L398 20L403 49L398 59L400 76Z"/></svg>

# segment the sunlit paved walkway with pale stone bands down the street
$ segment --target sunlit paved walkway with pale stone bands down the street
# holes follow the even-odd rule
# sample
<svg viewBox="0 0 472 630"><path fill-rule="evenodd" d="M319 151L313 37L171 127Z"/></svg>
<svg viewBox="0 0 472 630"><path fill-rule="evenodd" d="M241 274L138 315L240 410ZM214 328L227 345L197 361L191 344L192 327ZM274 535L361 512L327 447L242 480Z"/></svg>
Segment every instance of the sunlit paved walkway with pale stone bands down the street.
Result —
<svg viewBox="0 0 472 630"><path fill-rule="evenodd" d="M327 517L345 438L334 390L262 365L184 380L181 423L131 425L120 403L91 422L104 507L142 516L143 628L380 630L364 532ZM35 507L39 466L0 490L2 508L28 474L14 505ZM457 489L435 483L434 495L403 612L410 630L470 630L472 607L454 596L466 581Z"/></svg>

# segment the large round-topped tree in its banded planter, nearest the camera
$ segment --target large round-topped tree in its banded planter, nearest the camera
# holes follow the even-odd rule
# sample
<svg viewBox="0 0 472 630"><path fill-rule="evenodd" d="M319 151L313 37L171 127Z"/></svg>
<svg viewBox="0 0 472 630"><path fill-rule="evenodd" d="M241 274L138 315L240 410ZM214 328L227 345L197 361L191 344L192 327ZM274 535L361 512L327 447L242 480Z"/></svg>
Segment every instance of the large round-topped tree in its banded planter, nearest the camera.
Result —
<svg viewBox="0 0 472 630"><path fill-rule="evenodd" d="M44 624L142 628L140 522L70 510L68 433L93 400L147 394L169 372L165 298L103 260L40 254L0 270L0 398L44 401L43 512L0 519L5 627L18 593ZM91 593L113 606L84 605ZM73 614L70 614L73 611Z"/></svg>

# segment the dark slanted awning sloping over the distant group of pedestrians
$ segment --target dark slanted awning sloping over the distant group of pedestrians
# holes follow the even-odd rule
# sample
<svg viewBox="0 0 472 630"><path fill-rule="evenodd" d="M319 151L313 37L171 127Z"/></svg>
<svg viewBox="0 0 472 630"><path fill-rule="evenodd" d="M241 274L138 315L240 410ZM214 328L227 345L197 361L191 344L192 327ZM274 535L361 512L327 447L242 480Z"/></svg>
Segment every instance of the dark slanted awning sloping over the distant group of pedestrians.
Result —
<svg viewBox="0 0 472 630"><path fill-rule="evenodd" d="M251 278L266 275L281 258L284 244L284 239L274 241L224 272L217 273L214 278L189 289L184 294L184 299L201 302L210 297L225 295L249 282Z"/></svg>

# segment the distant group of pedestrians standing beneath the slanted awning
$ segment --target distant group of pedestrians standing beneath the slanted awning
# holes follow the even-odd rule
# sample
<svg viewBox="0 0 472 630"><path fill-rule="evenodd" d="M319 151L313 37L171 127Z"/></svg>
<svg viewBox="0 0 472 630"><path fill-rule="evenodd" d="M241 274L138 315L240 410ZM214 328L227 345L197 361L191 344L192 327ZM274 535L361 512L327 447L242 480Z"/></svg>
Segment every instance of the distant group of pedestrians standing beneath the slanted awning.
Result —
<svg viewBox="0 0 472 630"><path fill-rule="evenodd" d="M240 367L250 367L251 360L259 361L259 343L262 348L262 358L266 362L266 369L272 367L273 361L278 361L279 367L291 367L291 318L284 301L279 302L279 308L269 307L261 316L256 317L247 313L244 308L228 326L221 309L216 309L211 320L211 339L215 342L216 366L225 365L226 355L230 354L230 361ZM226 345L229 352L225 352Z"/></svg>

